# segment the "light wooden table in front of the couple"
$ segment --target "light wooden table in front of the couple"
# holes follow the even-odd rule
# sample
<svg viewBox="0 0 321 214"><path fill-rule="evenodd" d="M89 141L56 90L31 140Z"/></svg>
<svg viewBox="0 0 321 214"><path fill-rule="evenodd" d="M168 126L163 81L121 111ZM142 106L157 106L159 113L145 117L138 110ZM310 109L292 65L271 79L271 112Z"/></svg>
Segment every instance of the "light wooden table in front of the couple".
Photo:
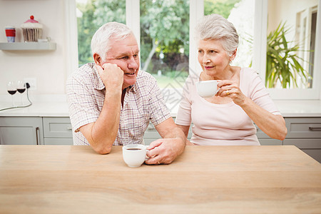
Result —
<svg viewBox="0 0 321 214"><path fill-rule="evenodd" d="M188 146L140 168L121 146L0 146L0 213L321 213L321 164L295 146Z"/></svg>

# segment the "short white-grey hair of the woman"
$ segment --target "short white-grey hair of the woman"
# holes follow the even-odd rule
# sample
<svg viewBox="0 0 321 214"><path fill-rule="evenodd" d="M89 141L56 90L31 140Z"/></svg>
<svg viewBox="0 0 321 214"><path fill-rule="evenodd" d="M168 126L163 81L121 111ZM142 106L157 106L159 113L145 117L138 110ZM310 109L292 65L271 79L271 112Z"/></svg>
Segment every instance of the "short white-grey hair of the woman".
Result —
<svg viewBox="0 0 321 214"><path fill-rule="evenodd" d="M195 29L195 39L218 39L228 54L238 48L238 32L230 21L218 14L204 16Z"/></svg>

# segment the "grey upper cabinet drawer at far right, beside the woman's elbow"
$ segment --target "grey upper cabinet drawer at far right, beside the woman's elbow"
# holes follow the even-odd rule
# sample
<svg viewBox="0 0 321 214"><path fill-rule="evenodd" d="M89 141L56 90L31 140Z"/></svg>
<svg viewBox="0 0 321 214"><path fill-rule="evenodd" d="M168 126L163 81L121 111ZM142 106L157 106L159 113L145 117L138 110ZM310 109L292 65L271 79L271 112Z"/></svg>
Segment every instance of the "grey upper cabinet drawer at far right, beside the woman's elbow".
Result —
<svg viewBox="0 0 321 214"><path fill-rule="evenodd" d="M286 138L321 138L321 118L286 118Z"/></svg>

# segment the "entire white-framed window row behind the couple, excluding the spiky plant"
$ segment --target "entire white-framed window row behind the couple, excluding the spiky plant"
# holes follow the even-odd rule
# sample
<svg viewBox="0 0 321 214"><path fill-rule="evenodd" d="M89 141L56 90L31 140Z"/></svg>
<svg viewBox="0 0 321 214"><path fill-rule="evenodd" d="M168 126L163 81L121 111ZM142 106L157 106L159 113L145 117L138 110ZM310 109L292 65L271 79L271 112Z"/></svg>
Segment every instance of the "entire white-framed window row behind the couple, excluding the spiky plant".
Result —
<svg viewBox="0 0 321 214"><path fill-rule="evenodd" d="M233 61L233 65L249 66L252 62L253 68L260 73L263 81L268 81L268 76L266 76L267 36L275 30L275 26L277 27L281 21L282 23L286 22L291 29L287 40L296 41L300 49L314 50L296 51L297 56L310 62L300 61L310 76L303 82L302 76L297 77L297 82L300 82L298 86L294 87L293 81L287 88L282 88L282 83L277 83L276 87L268 88L268 91L274 99L320 99L320 84L318 82L321 81L321 68L320 60L317 60L318 57L320 58L321 51L320 40L317 39L320 37L321 31L321 18L317 14L317 11L320 10L320 0L177 0L179 4L175 5L173 5L173 1L169 0L75 1L78 3L82 17L81 4L85 4L87 1L91 2L91 6L95 9L86 18L88 23L83 22L83 26L87 26L87 28L78 28L78 34L85 33L87 35L79 36L78 44L81 43L78 46L79 64L92 61L90 60L91 56L88 56L88 54L91 55L90 49L85 51L87 54L81 54L83 53L81 45L91 40L91 36L98 26L106 21L120 21L130 26L138 39L138 44L141 47L141 68L145 67L146 71L156 76L162 88L169 86L169 91L178 91L178 94L180 94L180 87L183 86L182 82L187 75L185 70L187 65L188 71L200 71L193 31L195 24L203 14L214 12L221 13L225 17L228 16L240 34L238 56ZM76 37L72 30L76 29L77 25L77 22L73 20L73 16L76 17L75 1L66 1L65 3L68 14L66 29L67 34L69 31L68 35L71 35L68 38L67 47L70 52L67 51L67 54L71 56L71 61L67 62L67 64L70 63L67 65L69 68L74 67L71 63L74 61L73 58L77 56L74 53L76 48L73 48ZM228 5L229 9L225 10L228 12L223 13L222 9L215 11L222 4ZM84 7L83 9L89 8ZM161 19L159 14L162 13L164 17L167 14L171 15L166 19ZM80 21L81 14L78 13L77 17ZM173 21L174 19L175 21ZM177 27L178 24L181 24L181 29ZM68 27L68 25L70 26ZM156 34L156 29L161 33ZM155 49L154 53L153 49ZM149 56L152 53L153 56ZM179 61L173 63L171 62L172 58L179 58ZM178 76L180 82L175 81L178 79L177 74L183 76L183 78ZM163 93L168 93L168 91L163 90Z"/></svg>

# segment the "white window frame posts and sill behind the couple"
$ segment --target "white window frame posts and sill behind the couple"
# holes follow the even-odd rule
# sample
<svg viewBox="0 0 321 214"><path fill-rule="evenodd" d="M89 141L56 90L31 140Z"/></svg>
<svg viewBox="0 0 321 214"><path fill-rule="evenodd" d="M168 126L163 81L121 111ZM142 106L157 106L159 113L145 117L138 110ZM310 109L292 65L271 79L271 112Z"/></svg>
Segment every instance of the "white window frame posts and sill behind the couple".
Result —
<svg viewBox="0 0 321 214"><path fill-rule="evenodd" d="M321 36L321 8L318 0L317 6L317 29L316 38ZM126 24L133 30L140 47L140 6L139 0L126 0ZM67 76L78 68L78 35L76 20L76 0L65 1L66 13L66 69ZM201 71L197 61L197 51L194 38L194 29L197 21L204 14L203 1L190 0L190 53L189 63L191 71ZM266 44L267 44L267 1L255 1L253 36L253 68L258 71L260 77L265 81L266 68ZM321 99L321 41L316 39L315 43L315 65L314 83L312 88L307 89L276 89L267 88L270 96L274 100L320 100Z"/></svg>

